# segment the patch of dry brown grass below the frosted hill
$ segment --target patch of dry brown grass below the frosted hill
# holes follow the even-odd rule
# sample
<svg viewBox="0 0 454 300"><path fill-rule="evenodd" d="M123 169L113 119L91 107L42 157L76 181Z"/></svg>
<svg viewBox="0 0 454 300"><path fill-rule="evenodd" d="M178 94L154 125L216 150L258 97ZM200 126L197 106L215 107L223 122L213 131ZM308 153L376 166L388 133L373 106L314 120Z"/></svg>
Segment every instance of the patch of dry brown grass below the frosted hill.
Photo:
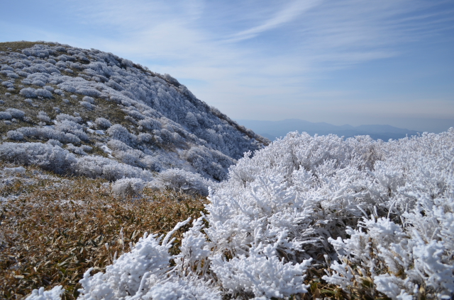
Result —
<svg viewBox="0 0 454 300"><path fill-rule="evenodd" d="M204 209L202 197L145 189L143 197L118 199L104 180L43 171L38 178L38 169L27 169L1 190L1 196L17 198L0 205L0 299L21 299L33 289L60 284L66 289L63 299L74 299L89 267L104 270L145 231L167 233ZM35 183L26 185L33 177ZM175 233L172 252L184 230Z"/></svg>

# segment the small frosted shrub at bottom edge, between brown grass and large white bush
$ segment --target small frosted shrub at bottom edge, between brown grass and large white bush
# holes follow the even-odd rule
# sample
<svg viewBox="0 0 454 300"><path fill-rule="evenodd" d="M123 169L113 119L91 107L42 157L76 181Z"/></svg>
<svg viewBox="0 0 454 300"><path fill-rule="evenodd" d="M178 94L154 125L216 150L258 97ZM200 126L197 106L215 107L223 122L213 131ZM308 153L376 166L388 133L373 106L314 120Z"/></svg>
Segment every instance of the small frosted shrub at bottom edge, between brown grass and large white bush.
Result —
<svg viewBox="0 0 454 300"><path fill-rule="evenodd" d="M105 273L90 275L92 269L87 270L81 280L79 299L221 300L221 292L209 284L167 276L172 271L169 262L174 258L168 253L171 235L188 221L178 223L162 241L145 233L131 253L121 255Z"/></svg>

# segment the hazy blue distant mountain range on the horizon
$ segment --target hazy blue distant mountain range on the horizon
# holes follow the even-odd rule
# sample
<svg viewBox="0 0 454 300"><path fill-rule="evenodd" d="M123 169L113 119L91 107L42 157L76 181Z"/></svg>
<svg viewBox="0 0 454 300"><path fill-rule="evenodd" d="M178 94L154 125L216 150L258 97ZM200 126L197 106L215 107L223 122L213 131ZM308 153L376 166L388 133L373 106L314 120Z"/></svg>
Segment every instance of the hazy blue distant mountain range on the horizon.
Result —
<svg viewBox="0 0 454 300"><path fill-rule="evenodd" d="M308 122L299 119L287 119L282 121L256 121L256 120L236 120L238 124L243 125L254 132L275 140L278 137L284 137L288 132L307 132L312 136L314 134L326 135L336 134L339 137L355 137L357 135L369 135L372 139L401 139L403 137L417 135L418 132L409 129L402 129L390 125L360 125L353 127L351 125L336 126L325 122Z"/></svg>

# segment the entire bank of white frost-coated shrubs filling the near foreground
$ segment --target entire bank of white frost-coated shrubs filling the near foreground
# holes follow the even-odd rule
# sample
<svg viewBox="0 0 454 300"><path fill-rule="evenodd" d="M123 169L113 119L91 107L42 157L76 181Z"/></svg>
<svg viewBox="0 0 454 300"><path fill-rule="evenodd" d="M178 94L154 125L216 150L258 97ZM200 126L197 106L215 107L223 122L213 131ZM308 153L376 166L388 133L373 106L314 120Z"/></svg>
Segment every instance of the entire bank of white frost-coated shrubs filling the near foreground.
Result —
<svg viewBox="0 0 454 300"><path fill-rule="evenodd" d="M230 168L179 254L167 249L189 219L87 270L79 299L301 299L320 282L336 299L452 299L453 173L453 129L391 142L290 133Z"/></svg>

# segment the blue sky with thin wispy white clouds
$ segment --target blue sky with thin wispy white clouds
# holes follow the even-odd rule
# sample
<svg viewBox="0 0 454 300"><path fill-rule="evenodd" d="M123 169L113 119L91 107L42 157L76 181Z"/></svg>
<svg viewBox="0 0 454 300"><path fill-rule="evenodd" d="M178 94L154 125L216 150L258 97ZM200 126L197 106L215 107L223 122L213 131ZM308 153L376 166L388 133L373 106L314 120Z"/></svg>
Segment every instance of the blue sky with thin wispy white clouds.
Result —
<svg viewBox="0 0 454 300"><path fill-rule="evenodd" d="M94 48L235 120L454 127L454 0L4 1L0 42Z"/></svg>

